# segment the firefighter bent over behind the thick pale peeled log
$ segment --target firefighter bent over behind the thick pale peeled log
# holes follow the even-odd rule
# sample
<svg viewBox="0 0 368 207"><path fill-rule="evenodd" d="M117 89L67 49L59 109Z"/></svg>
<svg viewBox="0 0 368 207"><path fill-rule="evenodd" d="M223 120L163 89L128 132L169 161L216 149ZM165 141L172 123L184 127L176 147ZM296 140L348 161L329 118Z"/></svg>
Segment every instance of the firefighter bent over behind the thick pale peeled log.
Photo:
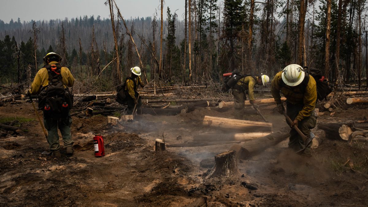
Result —
<svg viewBox="0 0 368 207"><path fill-rule="evenodd" d="M233 86L232 94L234 96L234 107L235 107L235 119L243 119L244 101L246 99L245 91L248 90L249 102L253 104L254 108L258 108L254 98L254 87L255 85L265 86L270 81L270 78L266 75L256 76L245 76L238 80Z"/></svg>

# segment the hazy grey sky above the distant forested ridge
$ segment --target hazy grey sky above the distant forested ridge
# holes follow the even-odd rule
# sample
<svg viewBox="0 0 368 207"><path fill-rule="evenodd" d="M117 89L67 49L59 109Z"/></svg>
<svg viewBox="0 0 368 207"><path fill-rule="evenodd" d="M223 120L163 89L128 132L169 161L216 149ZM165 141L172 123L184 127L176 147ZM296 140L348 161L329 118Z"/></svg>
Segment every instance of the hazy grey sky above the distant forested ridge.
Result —
<svg viewBox="0 0 368 207"><path fill-rule="evenodd" d="M160 0L115 0L124 18L153 16L157 9L160 17ZM163 18L166 19L167 7L171 12L175 10L178 19L183 19L184 1L165 0ZM23 21L69 19L87 15L100 15L101 18L109 18L109 7L105 6L105 0L0 0L0 20L8 23L12 18L18 17ZM182 5L183 4L183 5Z"/></svg>

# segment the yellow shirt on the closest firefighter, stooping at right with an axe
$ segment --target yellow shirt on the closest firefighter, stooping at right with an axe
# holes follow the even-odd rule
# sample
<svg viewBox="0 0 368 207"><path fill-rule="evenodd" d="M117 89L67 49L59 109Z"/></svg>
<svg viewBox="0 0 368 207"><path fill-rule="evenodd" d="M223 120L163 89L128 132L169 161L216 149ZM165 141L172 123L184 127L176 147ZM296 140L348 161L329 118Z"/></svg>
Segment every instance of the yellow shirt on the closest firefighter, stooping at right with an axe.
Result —
<svg viewBox="0 0 368 207"><path fill-rule="evenodd" d="M302 94L302 91L300 90L300 85L294 87L285 85L281 87L280 81L283 81L282 71L277 73L271 82L271 94L276 103L281 103L280 92L282 92L288 102L292 104L304 104L303 109L296 117L298 121L303 120L305 117L311 116L317 101L317 86L314 78L309 75L309 82L305 88L304 94Z"/></svg>

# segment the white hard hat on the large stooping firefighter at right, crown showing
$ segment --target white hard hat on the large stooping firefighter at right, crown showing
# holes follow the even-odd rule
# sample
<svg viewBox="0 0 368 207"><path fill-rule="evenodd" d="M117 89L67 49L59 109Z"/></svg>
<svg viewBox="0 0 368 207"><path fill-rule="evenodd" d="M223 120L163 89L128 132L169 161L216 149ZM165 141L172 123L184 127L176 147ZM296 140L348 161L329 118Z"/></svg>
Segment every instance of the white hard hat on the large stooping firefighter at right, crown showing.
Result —
<svg viewBox="0 0 368 207"><path fill-rule="evenodd" d="M303 67L297 64L291 64L282 71L282 80L286 85L296 86L304 80Z"/></svg>

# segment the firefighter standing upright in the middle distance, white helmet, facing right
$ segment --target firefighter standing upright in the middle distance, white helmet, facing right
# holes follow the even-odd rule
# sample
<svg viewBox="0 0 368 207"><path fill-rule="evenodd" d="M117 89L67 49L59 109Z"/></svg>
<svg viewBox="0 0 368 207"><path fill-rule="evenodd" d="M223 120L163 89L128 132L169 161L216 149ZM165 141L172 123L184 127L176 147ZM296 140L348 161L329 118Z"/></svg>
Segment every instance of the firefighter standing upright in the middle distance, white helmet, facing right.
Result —
<svg viewBox="0 0 368 207"><path fill-rule="evenodd" d="M142 73L138 66L132 67L130 71L132 72L130 77L127 77L125 80L124 91L126 98L124 105L128 106L128 113L131 114L133 113L135 104L137 104L137 108L140 108L142 105L141 99L138 99L138 85L141 85L143 88L145 84L140 77Z"/></svg>

